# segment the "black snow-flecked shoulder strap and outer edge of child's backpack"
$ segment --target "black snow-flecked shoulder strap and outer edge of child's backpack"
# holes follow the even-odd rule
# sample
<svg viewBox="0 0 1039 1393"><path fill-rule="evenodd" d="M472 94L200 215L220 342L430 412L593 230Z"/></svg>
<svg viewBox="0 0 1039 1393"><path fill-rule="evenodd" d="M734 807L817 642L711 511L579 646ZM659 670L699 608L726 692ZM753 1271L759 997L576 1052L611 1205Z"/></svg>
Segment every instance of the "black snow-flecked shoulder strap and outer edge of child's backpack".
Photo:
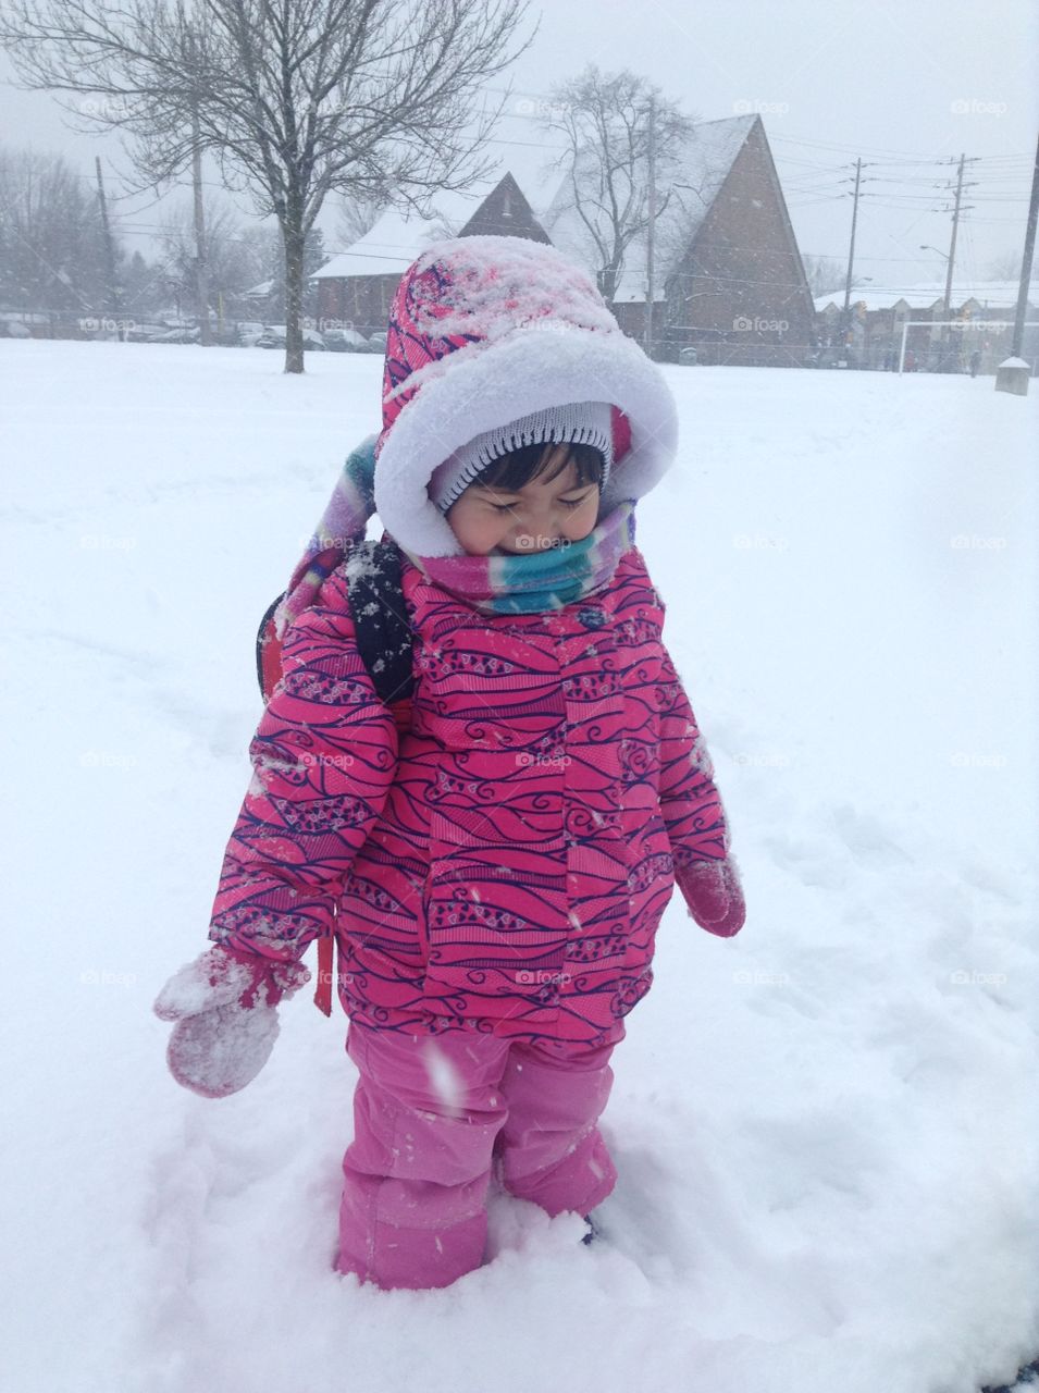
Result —
<svg viewBox="0 0 1039 1393"><path fill-rule="evenodd" d="M411 696L412 635L404 605L401 553L394 542L354 543L343 561L348 567L347 592L354 616L357 646L376 696L386 702ZM267 606L256 634L256 680L263 691L263 645L267 628L284 595Z"/></svg>

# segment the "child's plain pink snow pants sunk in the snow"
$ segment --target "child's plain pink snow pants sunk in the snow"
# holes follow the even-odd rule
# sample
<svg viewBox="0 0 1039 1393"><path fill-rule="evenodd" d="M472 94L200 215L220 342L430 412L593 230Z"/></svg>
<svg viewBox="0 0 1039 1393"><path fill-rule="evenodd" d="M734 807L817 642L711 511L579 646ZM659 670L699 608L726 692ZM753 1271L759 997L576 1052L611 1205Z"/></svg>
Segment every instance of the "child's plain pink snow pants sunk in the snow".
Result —
<svg viewBox="0 0 1039 1393"><path fill-rule="evenodd" d="M347 1053L361 1078L336 1270L422 1289L479 1268L492 1167L510 1194L550 1215L600 1204L617 1181L595 1126L614 1043L553 1053L469 1031L409 1035L351 1021Z"/></svg>

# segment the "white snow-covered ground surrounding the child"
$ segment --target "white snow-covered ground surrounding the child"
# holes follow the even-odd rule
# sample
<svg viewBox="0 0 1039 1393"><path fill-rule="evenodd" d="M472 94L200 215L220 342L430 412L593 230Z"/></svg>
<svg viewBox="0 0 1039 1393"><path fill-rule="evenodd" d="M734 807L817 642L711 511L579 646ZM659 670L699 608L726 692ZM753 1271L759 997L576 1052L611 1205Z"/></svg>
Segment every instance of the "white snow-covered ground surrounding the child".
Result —
<svg viewBox="0 0 1039 1393"><path fill-rule="evenodd" d="M639 507L749 918L678 898L604 1119L621 1180L440 1293L337 1279L345 1022L166 1074L259 717L252 641L376 358L0 341L19 1393L974 1393L1039 1350L1036 412L992 379L667 369ZM1035 383L1032 384L1035 389ZM11 603L13 598L13 603Z"/></svg>

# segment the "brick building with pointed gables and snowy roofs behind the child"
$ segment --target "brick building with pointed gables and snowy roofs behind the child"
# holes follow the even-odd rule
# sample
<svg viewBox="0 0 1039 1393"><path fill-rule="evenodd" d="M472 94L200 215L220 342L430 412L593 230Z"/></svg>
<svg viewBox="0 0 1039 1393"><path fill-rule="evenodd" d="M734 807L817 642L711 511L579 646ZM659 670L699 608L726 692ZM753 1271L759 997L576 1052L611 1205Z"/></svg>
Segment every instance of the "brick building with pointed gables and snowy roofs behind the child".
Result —
<svg viewBox="0 0 1039 1393"><path fill-rule="evenodd" d="M597 276L596 248L572 208L568 178L547 188L511 173L461 195L437 196L435 219L390 210L316 273L322 323L384 329L401 274L430 242L483 234L552 242ZM655 358L799 366L816 344L815 308L759 116L701 121L657 201L655 247ZM645 347L646 247L631 242L613 309L621 329Z"/></svg>

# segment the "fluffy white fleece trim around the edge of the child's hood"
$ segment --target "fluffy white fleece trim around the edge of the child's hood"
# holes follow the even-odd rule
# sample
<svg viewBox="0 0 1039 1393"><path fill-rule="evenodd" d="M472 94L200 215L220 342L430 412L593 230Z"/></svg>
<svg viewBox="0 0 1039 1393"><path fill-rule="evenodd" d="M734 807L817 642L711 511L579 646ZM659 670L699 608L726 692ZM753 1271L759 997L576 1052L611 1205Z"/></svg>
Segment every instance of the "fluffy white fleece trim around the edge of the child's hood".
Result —
<svg viewBox="0 0 1039 1393"><path fill-rule="evenodd" d="M518 327L451 362L457 357L437 362L440 375L429 376L404 407L376 462L376 511L416 556L464 554L426 495L433 469L485 430L545 407L609 401L628 417L631 449L614 462L600 517L621 499L649 493L674 462L678 415L671 389L620 330Z"/></svg>

